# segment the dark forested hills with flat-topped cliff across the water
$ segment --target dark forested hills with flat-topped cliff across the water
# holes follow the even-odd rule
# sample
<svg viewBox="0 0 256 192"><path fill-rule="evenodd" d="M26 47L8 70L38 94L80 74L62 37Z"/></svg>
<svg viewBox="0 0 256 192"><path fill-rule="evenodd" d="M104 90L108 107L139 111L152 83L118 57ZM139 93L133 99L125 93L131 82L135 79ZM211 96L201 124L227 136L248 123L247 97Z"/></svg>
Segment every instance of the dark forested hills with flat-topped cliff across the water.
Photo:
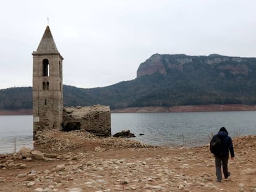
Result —
<svg viewBox="0 0 256 192"><path fill-rule="evenodd" d="M64 85L64 106L111 109L207 104L256 104L256 58L154 54L137 78L102 88ZM0 90L0 109L32 109L32 88Z"/></svg>

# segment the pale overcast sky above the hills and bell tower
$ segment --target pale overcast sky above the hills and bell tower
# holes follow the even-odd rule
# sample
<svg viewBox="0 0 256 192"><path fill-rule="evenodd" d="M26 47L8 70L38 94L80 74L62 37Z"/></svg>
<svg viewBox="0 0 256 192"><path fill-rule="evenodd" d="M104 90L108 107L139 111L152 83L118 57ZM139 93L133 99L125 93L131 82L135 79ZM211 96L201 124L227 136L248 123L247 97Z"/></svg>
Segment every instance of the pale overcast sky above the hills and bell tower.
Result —
<svg viewBox="0 0 256 192"><path fill-rule="evenodd" d="M47 18L80 88L136 78L151 55L256 57L254 0L9 0L0 6L0 89L32 86L32 52Z"/></svg>

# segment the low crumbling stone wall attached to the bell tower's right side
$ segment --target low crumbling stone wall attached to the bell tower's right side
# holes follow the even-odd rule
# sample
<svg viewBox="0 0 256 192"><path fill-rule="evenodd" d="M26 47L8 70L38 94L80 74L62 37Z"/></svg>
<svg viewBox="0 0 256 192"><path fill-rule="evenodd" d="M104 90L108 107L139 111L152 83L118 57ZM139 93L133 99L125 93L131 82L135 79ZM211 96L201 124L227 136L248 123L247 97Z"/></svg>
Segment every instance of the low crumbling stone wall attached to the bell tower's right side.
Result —
<svg viewBox="0 0 256 192"><path fill-rule="evenodd" d="M111 136L109 106L64 107L62 129L85 130L98 136Z"/></svg>

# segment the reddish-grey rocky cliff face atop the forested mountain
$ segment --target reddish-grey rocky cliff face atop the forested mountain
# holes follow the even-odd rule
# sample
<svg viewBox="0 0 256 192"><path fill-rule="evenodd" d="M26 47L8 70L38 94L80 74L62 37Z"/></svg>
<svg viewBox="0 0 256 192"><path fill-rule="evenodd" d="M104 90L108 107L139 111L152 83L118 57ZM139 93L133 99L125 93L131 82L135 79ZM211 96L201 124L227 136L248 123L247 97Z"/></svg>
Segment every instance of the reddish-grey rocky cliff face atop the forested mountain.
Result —
<svg viewBox="0 0 256 192"><path fill-rule="evenodd" d="M154 54L147 61L140 64L137 70L137 78L154 73L166 76L170 70L176 70L177 72L183 72L184 70L187 72L194 71L196 70L195 65L199 66L199 68L205 67L218 70L221 77L225 76L225 72L229 72L232 75L248 75L247 59L250 58L228 57L218 54L211 54L210 56Z"/></svg>

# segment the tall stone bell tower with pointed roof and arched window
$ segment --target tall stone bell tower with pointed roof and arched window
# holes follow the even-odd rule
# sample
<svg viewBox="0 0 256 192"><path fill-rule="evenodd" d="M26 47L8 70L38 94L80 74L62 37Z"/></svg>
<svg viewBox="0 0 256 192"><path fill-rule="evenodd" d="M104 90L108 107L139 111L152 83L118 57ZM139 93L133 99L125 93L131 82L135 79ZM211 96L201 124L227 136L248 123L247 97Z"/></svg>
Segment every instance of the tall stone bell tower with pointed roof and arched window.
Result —
<svg viewBox="0 0 256 192"><path fill-rule="evenodd" d="M33 51L33 131L60 129L63 112L62 61L49 26Z"/></svg>

